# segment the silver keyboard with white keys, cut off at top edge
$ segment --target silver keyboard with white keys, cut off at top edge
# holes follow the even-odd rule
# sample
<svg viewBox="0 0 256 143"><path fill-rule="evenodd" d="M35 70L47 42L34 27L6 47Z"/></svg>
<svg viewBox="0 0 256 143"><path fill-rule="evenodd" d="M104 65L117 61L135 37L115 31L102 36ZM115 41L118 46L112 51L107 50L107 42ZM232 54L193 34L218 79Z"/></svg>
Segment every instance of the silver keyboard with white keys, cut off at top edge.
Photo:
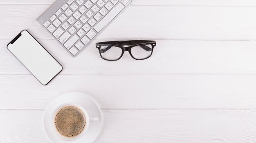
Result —
<svg viewBox="0 0 256 143"><path fill-rule="evenodd" d="M73 57L134 0L56 0L36 21Z"/></svg>

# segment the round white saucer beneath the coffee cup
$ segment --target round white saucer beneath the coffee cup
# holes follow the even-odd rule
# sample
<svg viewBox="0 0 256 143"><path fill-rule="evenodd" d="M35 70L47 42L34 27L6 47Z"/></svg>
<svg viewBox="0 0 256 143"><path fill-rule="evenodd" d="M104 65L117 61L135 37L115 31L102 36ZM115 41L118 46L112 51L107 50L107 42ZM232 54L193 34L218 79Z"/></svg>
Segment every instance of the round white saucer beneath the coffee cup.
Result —
<svg viewBox="0 0 256 143"><path fill-rule="evenodd" d="M50 118L54 109L64 103L79 104L87 111L90 117L99 117L99 121L90 122L90 126L83 137L76 141L63 141L59 139L54 135L50 127ZM46 108L43 118L43 126L45 133L53 143L92 143L101 132L102 114L98 104L90 96L76 92L65 93L56 97Z"/></svg>

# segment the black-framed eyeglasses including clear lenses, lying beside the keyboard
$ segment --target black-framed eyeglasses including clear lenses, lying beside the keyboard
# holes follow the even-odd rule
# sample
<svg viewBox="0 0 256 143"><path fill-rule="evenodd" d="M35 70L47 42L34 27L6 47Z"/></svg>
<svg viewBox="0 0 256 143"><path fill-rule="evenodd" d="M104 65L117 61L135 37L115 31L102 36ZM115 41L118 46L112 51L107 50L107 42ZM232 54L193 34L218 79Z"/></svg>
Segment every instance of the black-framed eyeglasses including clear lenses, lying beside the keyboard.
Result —
<svg viewBox="0 0 256 143"><path fill-rule="evenodd" d="M153 54L156 41L132 40L132 41L108 41L96 43L101 58L107 61L117 61L125 51L128 51L135 60L144 60Z"/></svg>

